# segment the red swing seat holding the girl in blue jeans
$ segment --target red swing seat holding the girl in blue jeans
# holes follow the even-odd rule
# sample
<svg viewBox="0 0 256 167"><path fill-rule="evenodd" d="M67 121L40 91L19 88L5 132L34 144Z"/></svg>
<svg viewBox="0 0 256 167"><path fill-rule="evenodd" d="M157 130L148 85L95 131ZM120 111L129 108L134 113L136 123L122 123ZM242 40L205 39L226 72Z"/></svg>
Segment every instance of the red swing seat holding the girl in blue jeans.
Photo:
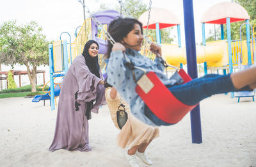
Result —
<svg viewBox="0 0 256 167"><path fill-rule="evenodd" d="M192 80L183 69L180 69L178 73L184 80L184 83ZM148 93L145 93L145 91L143 91L139 85L136 86L135 90L145 104L147 104L148 108L154 113L154 115L164 122L179 122L189 111L191 111L191 109L197 105L188 106L176 99L176 97L156 76L156 73L148 72L147 77L154 84L154 87L148 91Z"/></svg>

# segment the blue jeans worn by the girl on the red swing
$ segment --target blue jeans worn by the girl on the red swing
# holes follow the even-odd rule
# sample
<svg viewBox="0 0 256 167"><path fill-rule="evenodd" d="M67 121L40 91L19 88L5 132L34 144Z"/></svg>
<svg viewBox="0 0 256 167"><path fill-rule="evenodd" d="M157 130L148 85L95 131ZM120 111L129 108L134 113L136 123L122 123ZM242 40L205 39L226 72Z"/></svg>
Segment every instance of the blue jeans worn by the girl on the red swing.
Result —
<svg viewBox="0 0 256 167"><path fill-rule="evenodd" d="M166 85L166 87L168 87L168 85ZM252 91L249 86L244 86L243 88L236 90L231 81L230 74L227 76L209 74L204 77L193 79L185 84L172 86L168 88L168 90L170 90L180 102L189 106L193 106L214 94L227 93L230 91ZM158 126L173 125L172 123L167 123L157 118L147 105L145 105L145 115Z"/></svg>

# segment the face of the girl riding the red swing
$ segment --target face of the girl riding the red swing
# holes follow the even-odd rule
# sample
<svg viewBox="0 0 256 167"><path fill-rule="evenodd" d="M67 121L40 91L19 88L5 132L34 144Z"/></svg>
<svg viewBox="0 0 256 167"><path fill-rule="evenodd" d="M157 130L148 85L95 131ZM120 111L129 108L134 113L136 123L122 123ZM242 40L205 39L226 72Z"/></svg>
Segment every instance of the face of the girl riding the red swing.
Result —
<svg viewBox="0 0 256 167"><path fill-rule="evenodd" d="M139 24L134 24L134 28L130 31L127 36L123 38L125 47L140 51L143 45L143 35L141 34L141 28Z"/></svg>

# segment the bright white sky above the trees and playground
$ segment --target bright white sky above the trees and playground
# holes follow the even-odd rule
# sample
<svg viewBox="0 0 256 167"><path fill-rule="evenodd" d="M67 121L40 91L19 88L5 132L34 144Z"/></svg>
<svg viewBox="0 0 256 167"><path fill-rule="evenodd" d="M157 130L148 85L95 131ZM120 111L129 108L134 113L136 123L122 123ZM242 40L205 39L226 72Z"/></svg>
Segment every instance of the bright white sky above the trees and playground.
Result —
<svg viewBox="0 0 256 167"><path fill-rule="evenodd" d="M17 20L19 24L26 24L31 20L38 22L43 28L43 33L47 36L47 40L58 40L63 31L67 31L71 35L72 42L75 39L75 32L78 26L83 24L83 6L77 0L0 0L0 24L8 20ZM83 0L82 0L83 1ZM200 19L204 11L216 3L221 3L230 0L194 0L194 17L195 17L195 35L196 43L202 42L202 30ZM97 11L100 3L116 4L118 0L84 0L86 6L90 11ZM125 0L123 0L125 3ZM143 0L145 4L149 4L149 0ZM111 6L111 5L109 5ZM184 46L184 15L183 15L183 1L182 0L152 0L152 7L166 8L181 21L181 40ZM86 17L88 17L86 13ZM214 26L207 24L205 32L213 29ZM78 31L79 29L77 29ZM175 35L176 29L173 30ZM177 35L176 35L177 36ZM67 39L67 34L63 34L61 39ZM175 42L177 39L175 39Z"/></svg>

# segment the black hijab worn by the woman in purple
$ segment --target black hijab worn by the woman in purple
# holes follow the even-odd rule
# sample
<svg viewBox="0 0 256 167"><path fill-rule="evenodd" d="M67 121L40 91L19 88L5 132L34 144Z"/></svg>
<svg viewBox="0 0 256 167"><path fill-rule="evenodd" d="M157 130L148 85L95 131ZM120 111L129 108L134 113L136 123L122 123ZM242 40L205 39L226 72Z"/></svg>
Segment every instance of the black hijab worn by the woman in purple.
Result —
<svg viewBox="0 0 256 167"><path fill-rule="evenodd" d="M100 66L98 62L98 55L92 58L92 56L90 56L88 51L92 44L97 44L99 48L99 44L95 40L88 40L88 42L86 42L86 44L84 45L84 51L82 55L84 56L85 63L89 68L90 72L92 72L92 74L100 78L100 72L99 72Z"/></svg>

